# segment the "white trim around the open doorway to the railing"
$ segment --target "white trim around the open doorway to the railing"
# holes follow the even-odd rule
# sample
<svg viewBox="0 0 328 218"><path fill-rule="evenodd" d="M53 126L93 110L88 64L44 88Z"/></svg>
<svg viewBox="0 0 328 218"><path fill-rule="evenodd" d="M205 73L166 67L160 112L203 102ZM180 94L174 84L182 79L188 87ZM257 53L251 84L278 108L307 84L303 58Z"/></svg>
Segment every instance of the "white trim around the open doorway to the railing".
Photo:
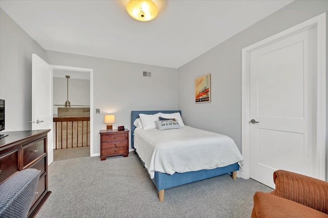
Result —
<svg viewBox="0 0 328 218"><path fill-rule="evenodd" d="M59 65L51 65L54 70L67 70L67 71L80 71L90 73L90 156L95 157L99 154L93 152L93 69L88 68L76 68ZM52 93L53 94L53 93Z"/></svg>

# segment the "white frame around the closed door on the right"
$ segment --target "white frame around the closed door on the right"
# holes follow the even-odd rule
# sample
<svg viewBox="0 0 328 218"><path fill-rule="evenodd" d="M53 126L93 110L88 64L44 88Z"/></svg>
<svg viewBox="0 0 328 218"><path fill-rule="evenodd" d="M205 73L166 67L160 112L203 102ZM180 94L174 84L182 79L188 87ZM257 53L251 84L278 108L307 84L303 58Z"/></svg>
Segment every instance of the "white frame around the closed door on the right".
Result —
<svg viewBox="0 0 328 218"><path fill-rule="evenodd" d="M317 176L325 180L326 175L326 13L304 21L294 27L243 48L241 70L241 151L244 158L239 176L250 178L250 54L291 35L317 27Z"/></svg>

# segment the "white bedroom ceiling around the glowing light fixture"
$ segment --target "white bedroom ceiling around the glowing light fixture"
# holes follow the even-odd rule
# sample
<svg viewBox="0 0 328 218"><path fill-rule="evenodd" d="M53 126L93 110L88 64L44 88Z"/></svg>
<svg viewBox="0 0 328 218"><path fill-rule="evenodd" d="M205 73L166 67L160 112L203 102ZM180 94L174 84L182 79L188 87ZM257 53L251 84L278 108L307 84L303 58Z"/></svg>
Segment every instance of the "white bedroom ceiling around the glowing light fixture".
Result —
<svg viewBox="0 0 328 218"><path fill-rule="evenodd" d="M0 7L43 49L179 68L292 0L157 0L141 22L127 0L4 1Z"/></svg>

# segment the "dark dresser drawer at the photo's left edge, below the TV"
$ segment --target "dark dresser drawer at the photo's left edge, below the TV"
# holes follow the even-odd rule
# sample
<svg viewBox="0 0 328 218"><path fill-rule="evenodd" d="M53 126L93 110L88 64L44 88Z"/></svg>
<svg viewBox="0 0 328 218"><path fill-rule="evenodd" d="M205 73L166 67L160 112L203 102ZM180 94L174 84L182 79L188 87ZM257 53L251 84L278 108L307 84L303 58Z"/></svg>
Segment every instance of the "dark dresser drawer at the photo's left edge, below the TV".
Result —
<svg viewBox="0 0 328 218"><path fill-rule="evenodd" d="M0 183L18 170L18 149L0 157Z"/></svg>

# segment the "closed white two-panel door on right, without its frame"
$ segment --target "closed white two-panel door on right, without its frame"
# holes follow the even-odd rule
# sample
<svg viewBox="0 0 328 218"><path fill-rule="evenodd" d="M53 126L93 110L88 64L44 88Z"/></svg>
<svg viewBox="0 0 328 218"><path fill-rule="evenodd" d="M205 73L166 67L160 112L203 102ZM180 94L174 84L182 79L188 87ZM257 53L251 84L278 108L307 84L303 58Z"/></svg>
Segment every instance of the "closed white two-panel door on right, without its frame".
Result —
<svg viewBox="0 0 328 218"><path fill-rule="evenodd" d="M250 54L250 177L275 188L273 172L316 177L317 27Z"/></svg>

